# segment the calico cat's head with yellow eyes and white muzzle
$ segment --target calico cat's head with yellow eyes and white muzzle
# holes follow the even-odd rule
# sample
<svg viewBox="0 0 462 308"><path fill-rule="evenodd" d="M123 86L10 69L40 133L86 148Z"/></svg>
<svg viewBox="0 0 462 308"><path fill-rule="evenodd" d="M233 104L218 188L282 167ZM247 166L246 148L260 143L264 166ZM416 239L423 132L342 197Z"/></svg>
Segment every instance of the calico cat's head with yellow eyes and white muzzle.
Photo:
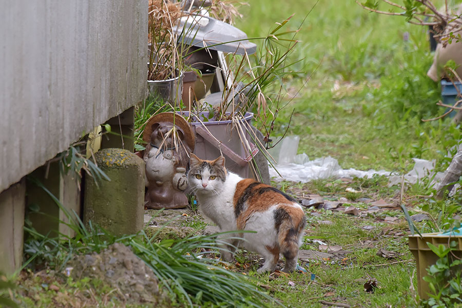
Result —
<svg viewBox="0 0 462 308"><path fill-rule="evenodd" d="M223 156L214 161L206 161L191 153L188 172L189 190L194 194L220 194L226 180L224 163Z"/></svg>

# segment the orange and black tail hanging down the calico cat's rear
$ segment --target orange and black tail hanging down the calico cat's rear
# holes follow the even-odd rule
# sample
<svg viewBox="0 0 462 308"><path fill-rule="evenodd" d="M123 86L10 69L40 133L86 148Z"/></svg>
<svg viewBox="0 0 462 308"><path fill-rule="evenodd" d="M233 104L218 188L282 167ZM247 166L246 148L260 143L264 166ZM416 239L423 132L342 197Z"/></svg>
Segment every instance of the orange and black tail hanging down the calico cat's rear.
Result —
<svg viewBox="0 0 462 308"><path fill-rule="evenodd" d="M300 247L300 235L306 225L306 219L303 216L300 221L295 224L292 218L286 218L279 226L278 241L279 251L286 260L292 260L298 255Z"/></svg>

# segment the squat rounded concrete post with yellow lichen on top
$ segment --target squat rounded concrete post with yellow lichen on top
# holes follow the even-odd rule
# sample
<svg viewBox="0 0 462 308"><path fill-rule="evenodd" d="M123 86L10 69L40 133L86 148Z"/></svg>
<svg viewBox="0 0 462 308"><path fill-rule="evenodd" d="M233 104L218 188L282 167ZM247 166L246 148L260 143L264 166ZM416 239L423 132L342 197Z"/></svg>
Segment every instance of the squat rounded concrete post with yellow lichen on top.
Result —
<svg viewBox="0 0 462 308"><path fill-rule="evenodd" d="M118 148L99 150L94 157L110 181L86 179L85 224L91 221L114 235L137 233L144 218L144 161Z"/></svg>

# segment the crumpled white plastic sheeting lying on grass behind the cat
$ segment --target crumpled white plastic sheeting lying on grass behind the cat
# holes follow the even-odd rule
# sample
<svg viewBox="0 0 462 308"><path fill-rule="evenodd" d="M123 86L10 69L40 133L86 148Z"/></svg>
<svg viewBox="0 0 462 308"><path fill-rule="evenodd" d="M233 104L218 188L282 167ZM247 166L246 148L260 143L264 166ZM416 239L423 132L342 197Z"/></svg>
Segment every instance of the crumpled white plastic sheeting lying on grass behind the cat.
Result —
<svg viewBox="0 0 462 308"><path fill-rule="evenodd" d="M277 146L270 149L272 157L279 163L273 168L269 166L269 176L276 181L293 181L293 182L309 182L317 179L329 178L372 178L374 175L386 176L390 179L390 185L400 184L402 175L396 172L387 170L367 171L357 170L354 168L342 169L338 161L332 157L318 158L310 160L305 153L297 154L298 136L285 137ZM435 167L435 161L427 161L423 159L413 159L415 162L414 168L404 175L405 182L417 183L419 179L423 179L432 175L432 170ZM281 176L279 176L279 174ZM442 176L442 172L438 172L433 181L438 181Z"/></svg>

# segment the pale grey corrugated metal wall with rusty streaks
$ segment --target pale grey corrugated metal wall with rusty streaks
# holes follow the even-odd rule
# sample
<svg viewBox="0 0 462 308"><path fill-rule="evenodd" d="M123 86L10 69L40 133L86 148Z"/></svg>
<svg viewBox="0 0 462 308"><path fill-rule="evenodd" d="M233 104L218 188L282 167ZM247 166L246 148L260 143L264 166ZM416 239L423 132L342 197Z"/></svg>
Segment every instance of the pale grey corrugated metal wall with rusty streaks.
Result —
<svg viewBox="0 0 462 308"><path fill-rule="evenodd" d="M147 0L0 10L0 192L146 95Z"/></svg>

